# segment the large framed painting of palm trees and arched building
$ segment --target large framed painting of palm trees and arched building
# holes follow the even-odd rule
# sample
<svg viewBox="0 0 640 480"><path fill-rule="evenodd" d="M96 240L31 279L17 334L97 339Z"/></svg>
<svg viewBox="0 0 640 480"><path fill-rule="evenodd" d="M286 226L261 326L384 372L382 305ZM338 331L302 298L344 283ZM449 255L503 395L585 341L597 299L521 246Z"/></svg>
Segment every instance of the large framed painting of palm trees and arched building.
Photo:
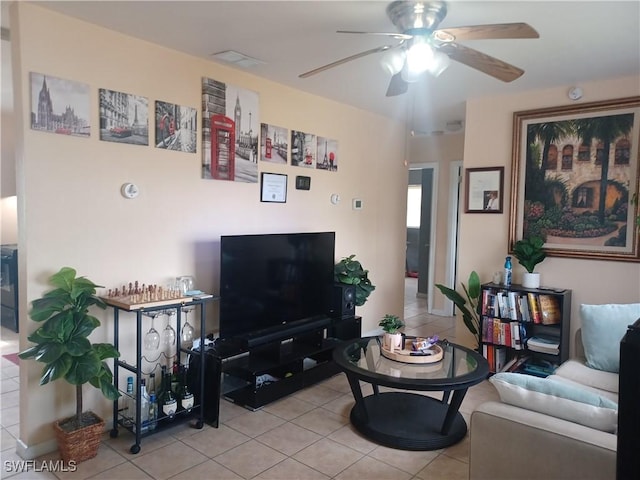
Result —
<svg viewBox="0 0 640 480"><path fill-rule="evenodd" d="M516 112L509 244L548 255L640 261L640 97Z"/></svg>

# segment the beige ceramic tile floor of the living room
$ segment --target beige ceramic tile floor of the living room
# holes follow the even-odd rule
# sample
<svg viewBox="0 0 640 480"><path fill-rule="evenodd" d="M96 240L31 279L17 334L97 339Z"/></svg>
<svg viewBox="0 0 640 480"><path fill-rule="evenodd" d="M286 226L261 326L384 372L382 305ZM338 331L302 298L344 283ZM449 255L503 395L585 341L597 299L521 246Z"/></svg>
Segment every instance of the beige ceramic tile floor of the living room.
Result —
<svg viewBox="0 0 640 480"><path fill-rule="evenodd" d="M426 300L415 296L415 279L407 279L406 332L454 338L453 318L424 313ZM2 329L1 353L16 352L17 334ZM457 445L412 452L377 445L349 423L353 398L343 374L297 392L256 412L221 403L220 428L202 430L186 424L147 437L137 455L129 453L133 436L105 433L98 456L75 472L51 473L42 467L22 473L7 471L5 461L19 460L18 366L2 358L2 470L0 478L18 479L468 479L468 435ZM462 404L467 423L478 403L495 399L489 382L472 387ZM57 460L57 453L37 462ZM36 465L42 465L36 463Z"/></svg>

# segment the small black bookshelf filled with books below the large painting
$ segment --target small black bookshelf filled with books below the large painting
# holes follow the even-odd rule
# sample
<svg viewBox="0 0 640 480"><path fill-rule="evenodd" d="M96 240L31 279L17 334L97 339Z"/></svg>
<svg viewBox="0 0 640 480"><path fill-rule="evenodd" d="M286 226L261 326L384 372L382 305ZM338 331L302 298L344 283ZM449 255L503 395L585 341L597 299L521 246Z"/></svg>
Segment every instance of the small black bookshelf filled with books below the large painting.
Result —
<svg viewBox="0 0 640 480"><path fill-rule="evenodd" d="M481 286L480 350L492 373L551 375L569 358L571 290Z"/></svg>

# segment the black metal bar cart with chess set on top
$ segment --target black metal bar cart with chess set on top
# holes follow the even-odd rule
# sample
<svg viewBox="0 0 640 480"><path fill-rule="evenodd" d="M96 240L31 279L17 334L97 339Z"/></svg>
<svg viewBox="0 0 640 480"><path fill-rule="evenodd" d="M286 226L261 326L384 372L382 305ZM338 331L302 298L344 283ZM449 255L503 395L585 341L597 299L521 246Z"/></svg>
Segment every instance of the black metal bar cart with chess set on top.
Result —
<svg viewBox="0 0 640 480"><path fill-rule="evenodd" d="M157 426L153 430L149 430L147 432L142 432L142 422L141 422L141 399L140 399L140 386L142 379L142 317L143 315L149 314L151 312L159 312L159 311L169 311L176 310L175 321L176 321L176 331L180 332L182 327L182 316L181 312L183 308L194 307L200 309L200 350L193 350L191 348L184 348L180 344L180 335L176 335L176 355L180 356L180 353L187 353L197 355L200 361L200 376L198 379L198 383L200 385L200 392L204 392L204 355L201 355L202 347L205 342L205 310L206 304L215 300L218 300L219 297L214 295L206 295L203 294L201 296L192 296L192 297L181 297L175 299L167 299L167 300L158 300L158 301L143 301L143 302L123 302L114 298L103 298L104 302L113 308L113 328L114 328L114 336L113 336L113 344L116 349L119 349L119 328L120 328L120 312L129 312L134 313L136 316L136 363L132 365L127 363L126 361L122 361L119 359L114 360L113 365L113 378L118 387L118 370L119 368L124 368L131 372L134 377L134 392L136 394L135 397L135 419L133 425L129 426L124 418L124 416L119 411L118 400L113 402L113 428L110 432L111 438L115 438L118 436L118 427L125 428L132 433L135 434L135 443L131 446L129 451L133 454L137 454L140 452L140 440L142 437L146 437L149 435L153 435L162 431L164 428L168 426L175 425L177 422L194 420L192 422L192 427L201 429L204 425L204 398L200 397L200 402L197 405L193 406L191 411L178 411L176 412L175 418L172 422L167 421L168 419L159 418L157 420Z"/></svg>

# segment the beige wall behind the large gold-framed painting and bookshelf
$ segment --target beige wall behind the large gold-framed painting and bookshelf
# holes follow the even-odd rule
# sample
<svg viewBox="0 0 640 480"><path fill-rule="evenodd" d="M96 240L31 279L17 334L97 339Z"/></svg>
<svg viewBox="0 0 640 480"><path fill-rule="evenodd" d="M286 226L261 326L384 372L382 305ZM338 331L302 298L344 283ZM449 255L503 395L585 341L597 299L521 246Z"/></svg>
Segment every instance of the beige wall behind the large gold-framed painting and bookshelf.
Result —
<svg viewBox="0 0 640 480"><path fill-rule="evenodd" d="M640 78L629 77L600 82L580 82L582 102L640 95ZM505 213L503 215L461 214L459 278L476 270L482 281L501 270L508 250L509 201L511 199L511 146L513 113L522 110L566 105L566 87L530 91L517 95L473 99L467 102L464 167L505 167ZM602 260L551 257L540 264L542 284L573 291L571 331L580 326L580 304L640 301L640 264ZM524 269L514 266L514 282ZM465 331L461 326L457 332ZM472 342L469 342L470 344Z"/></svg>

